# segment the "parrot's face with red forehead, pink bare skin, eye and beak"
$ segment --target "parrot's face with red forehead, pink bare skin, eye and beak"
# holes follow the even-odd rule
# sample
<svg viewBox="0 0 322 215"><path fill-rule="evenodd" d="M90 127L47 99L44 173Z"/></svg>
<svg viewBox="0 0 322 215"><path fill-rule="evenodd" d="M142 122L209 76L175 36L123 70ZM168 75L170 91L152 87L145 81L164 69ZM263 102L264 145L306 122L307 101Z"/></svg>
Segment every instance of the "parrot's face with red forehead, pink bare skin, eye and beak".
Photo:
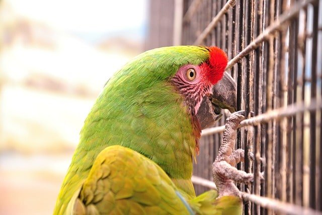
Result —
<svg viewBox="0 0 322 215"><path fill-rule="evenodd" d="M228 62L226 54L217 47L204 48L209 51L205 62L181 66L172 79L201 129L213 126L221 117L221 109L236 111L236 83L224 72Z"/></svg>

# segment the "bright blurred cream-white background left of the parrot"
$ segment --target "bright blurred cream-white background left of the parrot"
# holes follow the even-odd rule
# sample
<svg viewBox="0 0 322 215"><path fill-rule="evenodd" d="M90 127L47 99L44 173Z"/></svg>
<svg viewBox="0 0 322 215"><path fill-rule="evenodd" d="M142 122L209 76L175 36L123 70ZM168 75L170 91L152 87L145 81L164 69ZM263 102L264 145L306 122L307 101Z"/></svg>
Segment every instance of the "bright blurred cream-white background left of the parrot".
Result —
<svg viewBox="0 0 322 215"><path fill-rule="evenodd" d="M0 1L0 214L51 214L83 122L145 49L146 0Z"/></svg>

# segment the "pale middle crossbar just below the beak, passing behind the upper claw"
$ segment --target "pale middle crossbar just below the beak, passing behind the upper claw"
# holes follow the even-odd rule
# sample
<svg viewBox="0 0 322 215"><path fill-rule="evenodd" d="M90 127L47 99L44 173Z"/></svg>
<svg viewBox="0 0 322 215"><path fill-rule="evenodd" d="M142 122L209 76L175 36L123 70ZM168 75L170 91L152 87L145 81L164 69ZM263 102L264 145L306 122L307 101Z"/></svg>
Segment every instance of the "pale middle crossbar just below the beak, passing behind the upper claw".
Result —
<svg viewBox="0 0 322 215"><path fill-rule="evenodd" d="M240 127L245 126L256 126L261 123L269 122L273 119L278 120L283 117L291 117L298 113L302 113L304 111L316 111L322 109L322 102L311 100L310 104L304 104L303 102L298 102L295 104L290 104L286 107L282 107L279 109L275 109L272 111L268 111L265 114L258 115L256 117L252 117L247 120L243 120L240 122ZM211 135L222 133L225 130L225 126L219 126L214 128L205 129L201 132L201 136Z"/></svg>

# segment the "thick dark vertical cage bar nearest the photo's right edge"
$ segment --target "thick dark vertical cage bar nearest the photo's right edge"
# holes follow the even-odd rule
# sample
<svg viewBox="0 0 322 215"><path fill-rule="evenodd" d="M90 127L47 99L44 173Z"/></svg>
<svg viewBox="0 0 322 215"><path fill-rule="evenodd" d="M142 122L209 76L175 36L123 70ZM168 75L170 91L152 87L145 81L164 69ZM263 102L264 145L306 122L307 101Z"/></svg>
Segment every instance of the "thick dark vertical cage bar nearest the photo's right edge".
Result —
<svg viewBox="0 0 322 215"><path fill-rule="evenodd" d="M313 31L312 31L312 55L311 55L311 99L316 97L316 58L317 58L317 29L318 29L318 1L313 5ZM316 208L316 116L315 112L310 113L310 186L309 205Z"/></svg>

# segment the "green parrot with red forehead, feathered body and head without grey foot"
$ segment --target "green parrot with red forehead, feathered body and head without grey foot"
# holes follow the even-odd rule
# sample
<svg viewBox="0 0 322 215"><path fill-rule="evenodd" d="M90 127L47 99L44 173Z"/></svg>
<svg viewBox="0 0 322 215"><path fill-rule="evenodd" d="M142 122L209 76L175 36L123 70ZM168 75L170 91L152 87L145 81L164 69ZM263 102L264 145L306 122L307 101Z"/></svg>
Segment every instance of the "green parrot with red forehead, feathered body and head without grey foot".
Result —
<svg viewBox="0 0 322 215"><path fill-rule="evenodd" d="M115 73L85 121L53 214L240 214L238 196L196 196L191 181L214 107L235 110L226 64L217 47L174 46Z"/></svg>

